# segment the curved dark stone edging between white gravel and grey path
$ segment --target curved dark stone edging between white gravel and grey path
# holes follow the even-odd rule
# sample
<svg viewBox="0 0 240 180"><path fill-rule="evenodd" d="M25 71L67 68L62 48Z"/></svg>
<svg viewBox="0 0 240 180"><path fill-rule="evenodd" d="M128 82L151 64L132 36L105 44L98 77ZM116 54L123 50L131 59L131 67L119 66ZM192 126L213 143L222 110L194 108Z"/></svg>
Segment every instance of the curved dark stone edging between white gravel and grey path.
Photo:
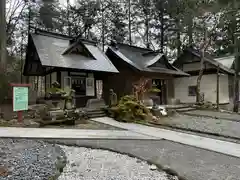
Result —
<svg viewBox="0 0 240 180"><path fill-rule="evenodd" d="M138 156L136 156L136 155L134 155L132 153L127 153L127 152L115 150L114 148L100 147L97 143L94 144L94 145L78 145L77 142L70 142L70 141L64 141L64 140L59 140L59 139L45 140L45 141L48 142L48 143L54 143L54 144L59 144L59 145L75 146L75 147L86 147L86 148L90 148L90 149L102 149L102 150L108 150L108 151L115 152L115 153L120 153L120 154L123 154L123 155L127 155L129 157L138 158L138 159L140 159L142 161L146 161L149 165L154 164L154 165L157 166L158 170L162 170L162 171L166 172L169 175L176 176L179 180L187 180L187 178L185 178L184 176L179 175L179 173L177 173L175 170L171 169L171 167L163 166L160 163L157 163L153 159L144 159L144 158L138 157Z"/></svg>

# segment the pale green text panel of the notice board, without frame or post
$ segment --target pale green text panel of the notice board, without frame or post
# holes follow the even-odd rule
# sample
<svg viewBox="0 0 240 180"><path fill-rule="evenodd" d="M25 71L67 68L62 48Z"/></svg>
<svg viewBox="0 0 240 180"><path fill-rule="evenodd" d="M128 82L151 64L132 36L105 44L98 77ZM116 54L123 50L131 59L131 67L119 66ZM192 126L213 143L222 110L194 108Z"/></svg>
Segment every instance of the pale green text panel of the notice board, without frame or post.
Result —
<svg viewBox="0 0 240 180"><path fill-rule="evenodd" d="M13 87L13 111L28 110L28 87Z"/></svg>

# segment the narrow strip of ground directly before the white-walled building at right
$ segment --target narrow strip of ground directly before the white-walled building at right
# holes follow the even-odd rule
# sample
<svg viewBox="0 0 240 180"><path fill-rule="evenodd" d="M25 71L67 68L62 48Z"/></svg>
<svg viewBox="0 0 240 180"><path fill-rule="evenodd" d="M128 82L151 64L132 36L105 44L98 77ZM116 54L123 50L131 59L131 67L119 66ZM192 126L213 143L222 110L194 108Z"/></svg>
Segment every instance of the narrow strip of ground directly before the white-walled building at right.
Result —
<svg viewBox="0 0 240 180"><path fill-rule="evenodd" d="M240 114L235 114L235 113L207 111L207 110L194 110L194 111L183 112L183 114L186 114L189 116L202 116L202 117L226 119L230 121L240 122Z"/></svg>

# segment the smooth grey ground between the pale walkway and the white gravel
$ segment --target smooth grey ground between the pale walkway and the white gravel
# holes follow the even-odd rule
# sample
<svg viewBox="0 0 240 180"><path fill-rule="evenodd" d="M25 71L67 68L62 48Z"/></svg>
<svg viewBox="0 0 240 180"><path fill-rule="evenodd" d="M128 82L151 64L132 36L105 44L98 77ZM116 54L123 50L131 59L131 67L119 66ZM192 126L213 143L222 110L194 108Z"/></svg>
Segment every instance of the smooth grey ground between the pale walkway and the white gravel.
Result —
<svg viewBox="0 0 240 180"><path fill-rule="evenodd" d="M166 140L54 140L53 142L107 148L131 154L153 161L164 168L173 169L187 180L240 179L239 158ZM122 163L125 165L125 162Z"/></svg>

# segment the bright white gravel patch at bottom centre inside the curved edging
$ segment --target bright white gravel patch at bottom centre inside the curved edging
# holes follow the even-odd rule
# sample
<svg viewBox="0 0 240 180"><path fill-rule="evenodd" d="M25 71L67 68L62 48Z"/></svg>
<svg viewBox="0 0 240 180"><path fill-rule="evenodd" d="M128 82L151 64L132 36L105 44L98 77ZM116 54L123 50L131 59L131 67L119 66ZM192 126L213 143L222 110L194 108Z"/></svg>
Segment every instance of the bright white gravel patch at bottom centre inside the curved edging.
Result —
<svg viewBox="0 0 240 180"><path fill-rule="evenodd" d="M68 160L59 180L177 180L126 155L82 147L61 148Z"/></svg>

